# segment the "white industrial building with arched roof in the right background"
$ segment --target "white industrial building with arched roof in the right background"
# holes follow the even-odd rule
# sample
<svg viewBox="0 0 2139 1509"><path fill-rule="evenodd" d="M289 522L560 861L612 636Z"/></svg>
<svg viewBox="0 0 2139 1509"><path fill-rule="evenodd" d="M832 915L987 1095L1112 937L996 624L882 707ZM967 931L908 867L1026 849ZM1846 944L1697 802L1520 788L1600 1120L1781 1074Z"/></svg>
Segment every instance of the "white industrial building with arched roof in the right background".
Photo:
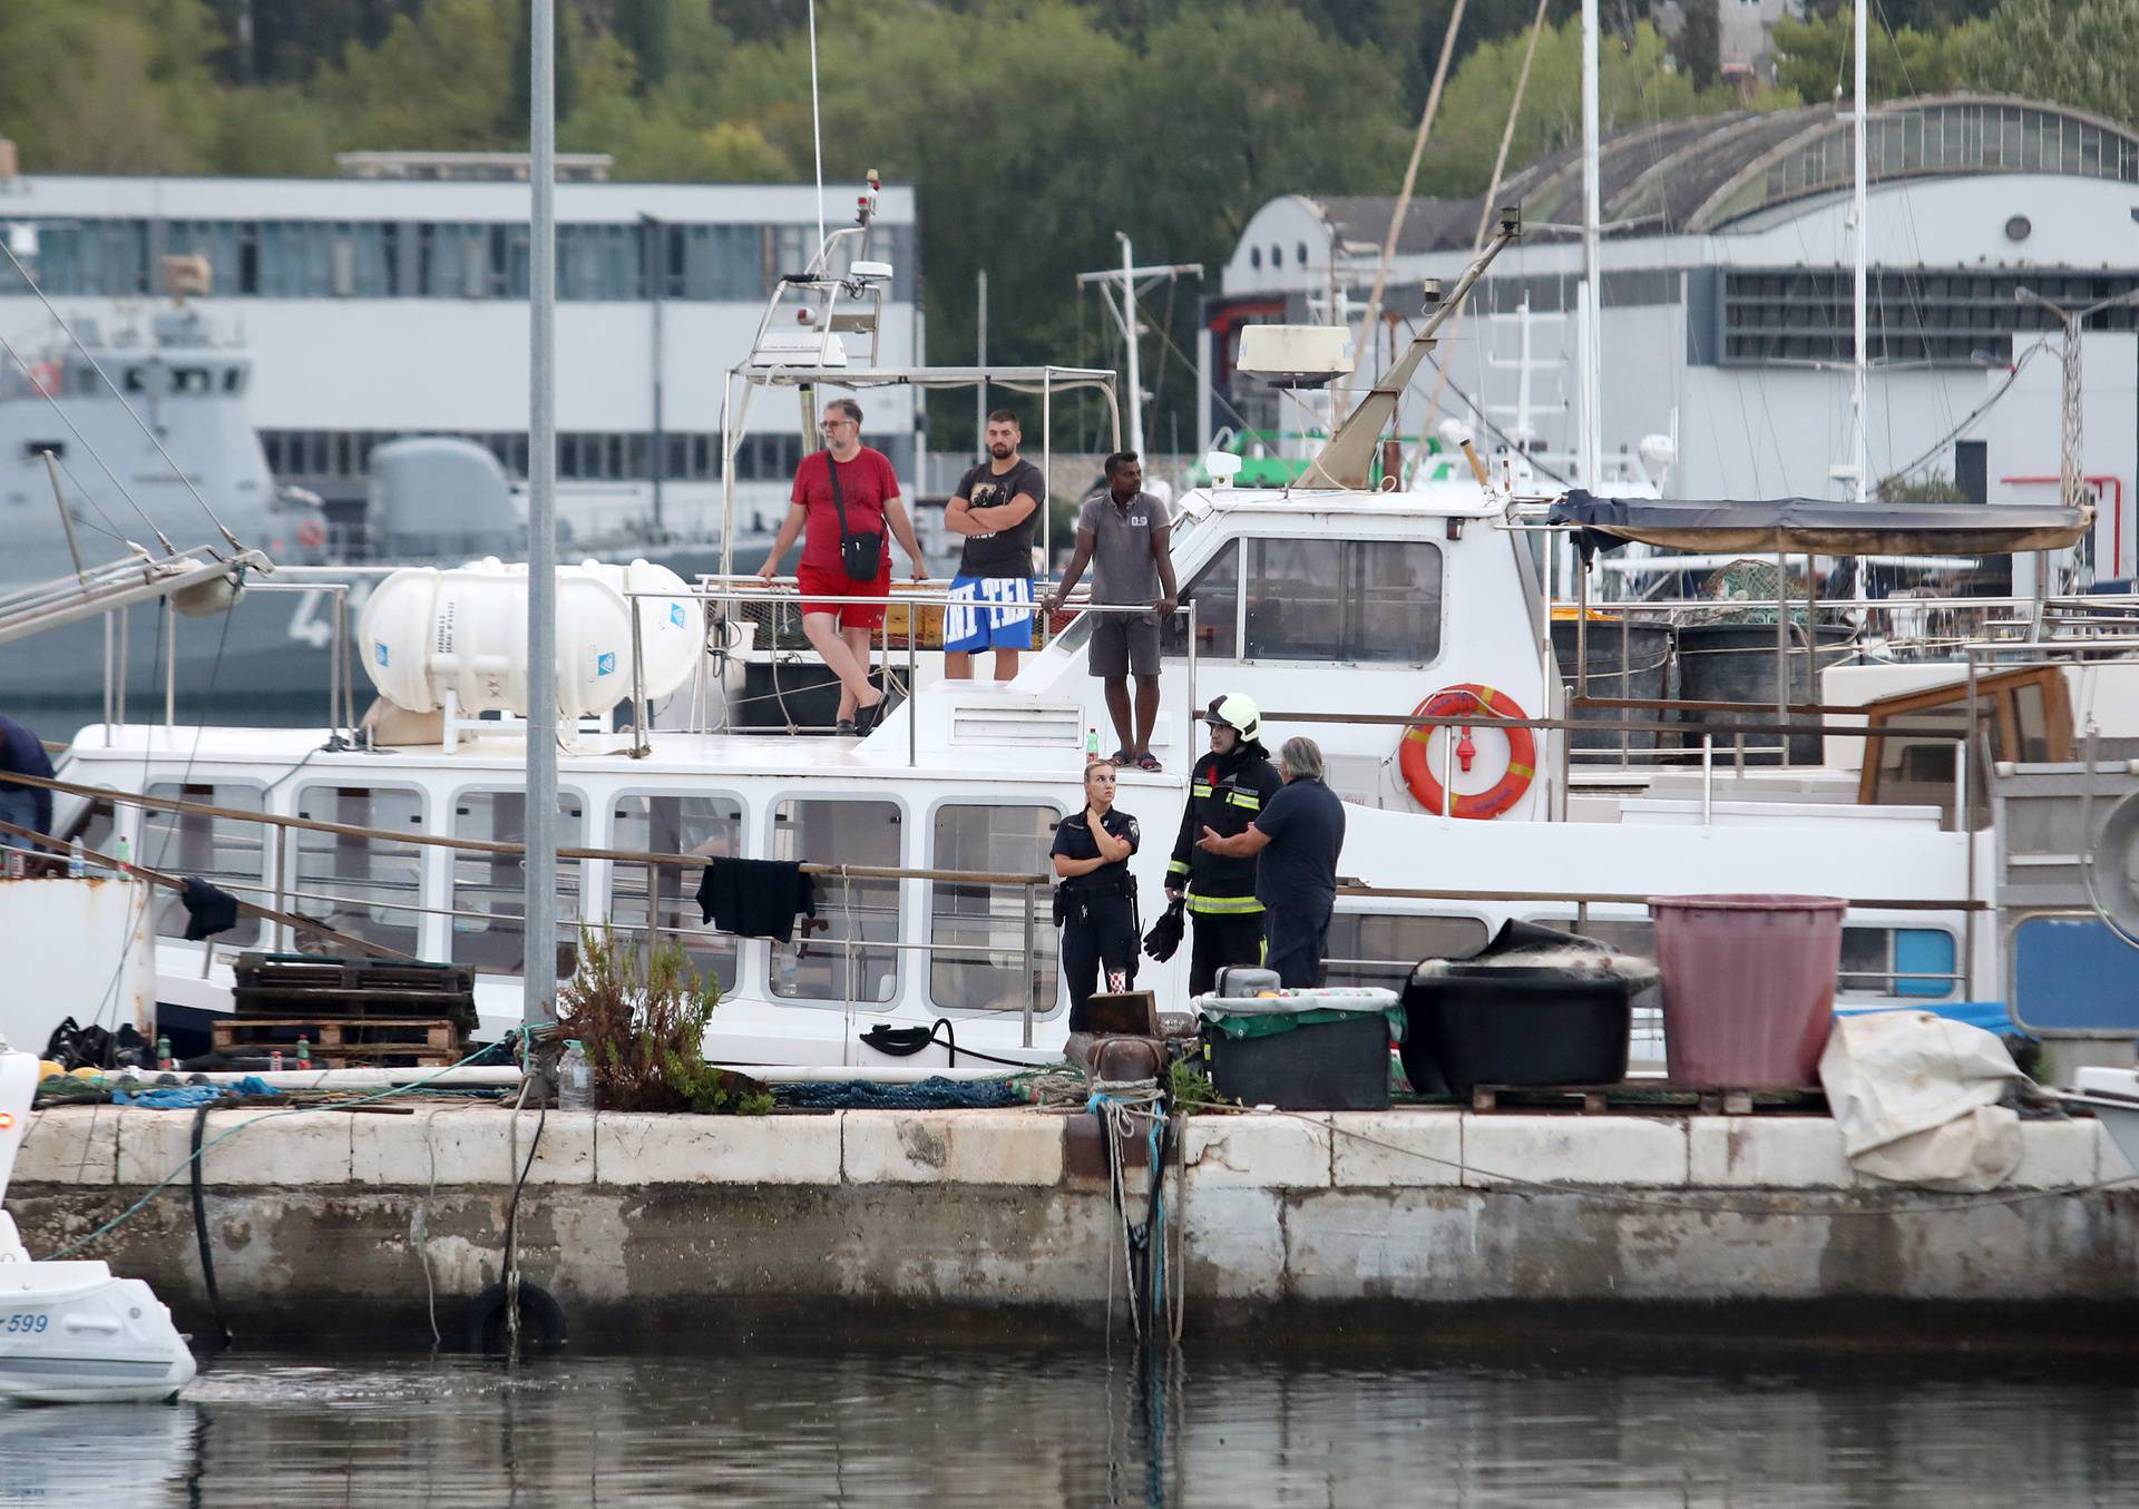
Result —
<svg viewBox="0 0 2139 1509"><path fill-rule="evenodd" d="M1910 98L1876 111L1869 162L1872 485L1940 475L1979 500L2053 500L2058 321L2015 291L2079 308L2139 289L2139 137L2058 105ZM1525 235L1478 284L1461 327L1444 331L1440 415L1583 481L1572 462L1581 154L1510 173L1499 203L1523 207ZM1636 470L1645 436L1668 436L1666 494L1848 496L1848 120L1820 105L1621 130L1602 145L1602 205L1606 475ZM1384 297L1392 325L1367 353L1369 372L1418 318L1420 280L1461 274L1482 209L1478 199L1412 203ZM1288 195L1253 214L1224 293L1204 304L1204 434L1301 425L1290 400L1234 376L1238 329L1356 323L1392 212L1390 199ZM2130 306L2086 323L2098 579L2130 577L2139 562L2135 329ZM1433 387L1431 374L1414 387L1407 432L1429 423Z"/></svg>

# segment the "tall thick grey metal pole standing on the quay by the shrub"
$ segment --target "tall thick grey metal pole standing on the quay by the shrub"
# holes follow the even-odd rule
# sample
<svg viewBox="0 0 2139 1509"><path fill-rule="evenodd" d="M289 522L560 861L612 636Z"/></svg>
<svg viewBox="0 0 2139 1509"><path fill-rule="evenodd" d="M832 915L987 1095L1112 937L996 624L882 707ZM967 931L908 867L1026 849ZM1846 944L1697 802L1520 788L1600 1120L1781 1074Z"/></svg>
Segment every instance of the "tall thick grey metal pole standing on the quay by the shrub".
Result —
<svg viewBox="0 0 2139 1509"><path fill-rule="evenodd" d="M556 0L528 21L528 804L522 1022L556 1011Z"/></svg>

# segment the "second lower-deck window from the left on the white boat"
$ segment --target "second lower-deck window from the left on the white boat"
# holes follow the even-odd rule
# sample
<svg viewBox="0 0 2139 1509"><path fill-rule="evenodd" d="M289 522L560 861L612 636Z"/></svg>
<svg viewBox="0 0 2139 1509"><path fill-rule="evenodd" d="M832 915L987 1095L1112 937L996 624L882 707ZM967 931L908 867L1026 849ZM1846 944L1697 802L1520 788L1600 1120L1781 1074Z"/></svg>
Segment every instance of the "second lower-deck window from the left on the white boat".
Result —
<svg viewBox="0 0 2139 1509"><path fill-rule="evenodd" d="M424 831L424 793L413 787L299 787L297 816L374 831L289 829L284 896L291 908L366 943L419 953L424 849L398 834ZM299 936L299 947L319 947L319 940Z"/></svg>

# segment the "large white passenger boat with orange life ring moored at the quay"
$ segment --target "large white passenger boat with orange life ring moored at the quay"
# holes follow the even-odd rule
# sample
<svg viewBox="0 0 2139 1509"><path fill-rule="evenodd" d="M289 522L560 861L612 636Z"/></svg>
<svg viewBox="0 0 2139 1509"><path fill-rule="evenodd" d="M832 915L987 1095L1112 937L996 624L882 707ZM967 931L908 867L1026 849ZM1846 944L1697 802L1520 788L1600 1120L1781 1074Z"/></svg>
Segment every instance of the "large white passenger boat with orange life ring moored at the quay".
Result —
<svg viewBox="0 0 2139 1509"><path fill-rule="evenodd" d="M1555 609L1538 569L1540 543L1564 539L1566 526L1493 487L1365 487L1367 457L1412 368L1388 374L1339 427L1309 472L1313 485L1198 489L1176 504L1185 607L1168 626L1161 673L1153 750L1164 772L1125 769L1119 797L1144 825L1132 870L1147 904L1161 896L1187 769L1204 748L1196 714L1219 693L1247 693L1264 707L1266 742L1292 733L1322 742L1330 784L1352 808L1341 859L1352 889L1339 898L1328 949L1337 979L1386 981L1425 955L1484 943L1506 919L1581 921L1641 949L1649 893L1799 891L1852 902L1846 1000L1996 998L2004 928L1983 911L1998 900L2000 851L1981 842L1987 829L1970 816L1985 772L1968 754L1932 782L1921 772L1902 780L1912 767L1895 757L1917 746L1889 737L1895 780L1865 791L1855 761L1758 763L1756 750L1741 765L1728 737L1707 759L1698 737L1638 742L1619 750L1634 754L1624 759L1609 737L1604 748L1570 750L1555 729L1495 727L1484 712L1455 746L1444 727L1407 735L1407 714L1463 688L1491 690L1502 716L1568 714L1549 633ZM2026 528L2000 522L2004 547L2079 528L2053 509L2028 513ZM1891 530L1889 515L1880 519ZM1908 522L1938 532L1927 513ZM1664 526L1628 528L1638 536ZM1666 532L1686 543L1683 530ZM1981 530L1970 536L1970 549L1998 545ZM736 579L682 592L708 611L753 594L757 584ZM680 607L672 586L635 601L642 613L646 603L663 613ZM1080 799L1093 731L1112 742L1082 639L1072 624L1010 684L920 675L862 740L723 725L704 693L721 680L725 650L695 663L648 731L582 727L558 763L558 842L578 851L558 866L565 964L582 925L680 940L721 981L706 1052L723 1062L941 1064L943 1045L901 1058L864 1041L877 1026L926 1030L939 1017L952 1022L960 1052L1050 1060L1065 1034L1065 994L1044 887L1016 876L1046 868L1052 829ZM629 648L622 656L612 684L635 675ZM374 648L364 658L376 663ZM909 652L894 641L888 658L905 667ZM915 665L926 658L911 654ZM1964 665L1944 671L1946 682L1964 675ZM637 680L644 695L661 690ZM2006 693L1985 693L1998 695ZM1461 716L1472 707L1463 697L1444 705ZM321 729L90 727L62 772L71 782L284 825L124 804L92 814L79 799L62 804L62 816L73 806L103 825L92 849L118 823L148 866L201 874L398 953L475 964L483 1024L503 1030L522 1017L520 861L445 844L520 840L524 744L509 720L449 733L436 707L402 720L417 731L353 748L323 748ZM819 876L824 930L774 945L702 928L695 872L655 855L845 870ZM175 906L160 930L158 996L203 1013L229 1009L237 951L295 943L261 921L210 945L184 943ZM1138 983L1179 1005L1185 968L1185 953L1147 962Z"/></svg>

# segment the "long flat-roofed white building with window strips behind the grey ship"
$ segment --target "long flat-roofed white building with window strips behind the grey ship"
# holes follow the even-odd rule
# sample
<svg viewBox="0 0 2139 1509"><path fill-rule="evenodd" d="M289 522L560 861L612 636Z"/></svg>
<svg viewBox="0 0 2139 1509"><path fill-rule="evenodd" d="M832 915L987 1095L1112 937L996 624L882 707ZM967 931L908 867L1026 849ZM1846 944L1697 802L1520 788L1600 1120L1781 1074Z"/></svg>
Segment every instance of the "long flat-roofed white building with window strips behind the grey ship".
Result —
<svg viewBox="0 0 2139 1509"><path fill-rule="evenodd" d="M556 413L565 517L704 534L719 519L723 374L751 346L776 280L851 222L860 186L612 184L603 158L560 162ZM0 237L68 318L107 333L160 304L163 259L205 256L197 301L252 357L252 421L276 481L364 496L374 445L456 434L526 475L528 188L524 158L361 154L349 177L0 180ZM879 361L922 357L915 195L886 188L868 254L896 269ZM0 259L0 331L53 323ZM659 355L657 355L659 353ZM738 494L785 496L800 425L761 402ZM866 438L903 477L920 406L864 395Z"/></svg>

